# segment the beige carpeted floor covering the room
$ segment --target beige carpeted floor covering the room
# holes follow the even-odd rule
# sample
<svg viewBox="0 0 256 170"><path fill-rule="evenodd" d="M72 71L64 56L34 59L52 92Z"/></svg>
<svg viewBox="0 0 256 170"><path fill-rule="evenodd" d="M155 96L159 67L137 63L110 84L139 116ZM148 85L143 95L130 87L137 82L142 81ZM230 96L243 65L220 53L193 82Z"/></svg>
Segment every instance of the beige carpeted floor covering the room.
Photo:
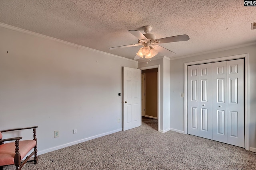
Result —
<svg viewBox="0 0 256 170"><path fill-rule="evenodd" d="M160 133L157 127L157 120L143 118L138 128L39 155L38 164L27 163L22 170L256 169L255 152L174 131Z"/></svg>

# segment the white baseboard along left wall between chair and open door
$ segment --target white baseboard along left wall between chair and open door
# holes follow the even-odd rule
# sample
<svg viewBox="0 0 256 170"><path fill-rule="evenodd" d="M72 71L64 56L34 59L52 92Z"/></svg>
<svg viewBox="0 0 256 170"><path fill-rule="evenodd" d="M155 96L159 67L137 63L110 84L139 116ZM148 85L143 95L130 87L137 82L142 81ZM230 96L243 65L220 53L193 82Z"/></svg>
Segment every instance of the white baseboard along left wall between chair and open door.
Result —
<svg viewBox="0 0 256 170"><path fill-rule="evenodd" d="M112 134L112 133L116 133L116 132L119 132L119 131L122 131L122 130L123 130L123 129L117 129L117 130L114 130L114 131L102 133L102 134L95 135L95 136L92 136L92 137L88 137L88 138L85 138L85 139L81 139L81 140L78 140L78 141L66 143L66 144L64 144L64 145L59 145L59 146L52 147L52 148L49 148L49 149L40 150L40 151L37 152L37 155L44 154L44 153L48 153L48 152L52 152L52 151L54 151L54 150L62 149L62 148L69 147L69 146L72 146L72 145L76 145L76 144L78 144L78 143L82 143L82 142L85 142L85 141L90 141L90 140L92 140L92 139L96 139L96 138L98 138L98 137L110 135L110 134ZM26 156L27 156L27 155L26 155ZM26 156L25 156L25 158L26 158Z"/></svg>

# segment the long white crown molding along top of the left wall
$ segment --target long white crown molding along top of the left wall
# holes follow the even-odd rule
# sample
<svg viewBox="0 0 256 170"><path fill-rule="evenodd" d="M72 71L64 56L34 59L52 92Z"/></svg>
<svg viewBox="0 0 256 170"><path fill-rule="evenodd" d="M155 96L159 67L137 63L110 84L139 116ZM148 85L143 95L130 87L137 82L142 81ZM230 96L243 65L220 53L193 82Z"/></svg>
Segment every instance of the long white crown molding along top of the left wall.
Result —
<svg viewBox="0 0 256 170"><path fill-rule="evenodd" d="M48 40L50 40L50 41L55 41L55 42L58 42L58 43L62 43L62 44L65 44L65 45L69 45L69 46L71 46L71 47L76 47L76 48L79 48L79 49L84 49L84 50L88 50L88 51L93 51L93 52L96 52L96 53L101 53L101 54L104 54L104 55L109 55L109 56L112 56L112 57L117 57L117 58L120 58L120 59L124 59L124 60L128 60L128 61L132 61L132 62L138 63L138 61L135 61L135 60L132 60L132 59L127 59L127 58L125 58L125 57L121 57L121 56L118 56L118 55L106 53L106 52L99 51L99 50L96 50L96 49L91 49L91 48L89 48L89 47L85 47L85 46L82 46L82 45L70 43L70 42L68 42L68 41L63 41L63 40L61 40L61 39L49 37L49 36L47 36L47 35L42 35L42 34L40 34L40 33L35 33L35 32L32 32L32 31L28 31L28 30L26 30L26 29L22 29L22 28L19 28L19 27L14 27L14 26L12 26L12 25L8 25L8 24L5 24L5 23L1 23L1 22L0 22L0 27L6 28L6 29L10 29L10 30L13 30L13 31L18 31L18 32L21 32L21 33L25 33L25 34L28 34L28 35L35 36L35 37L39 37L39 38L43 38L43 39L48 39Z"/></svg>

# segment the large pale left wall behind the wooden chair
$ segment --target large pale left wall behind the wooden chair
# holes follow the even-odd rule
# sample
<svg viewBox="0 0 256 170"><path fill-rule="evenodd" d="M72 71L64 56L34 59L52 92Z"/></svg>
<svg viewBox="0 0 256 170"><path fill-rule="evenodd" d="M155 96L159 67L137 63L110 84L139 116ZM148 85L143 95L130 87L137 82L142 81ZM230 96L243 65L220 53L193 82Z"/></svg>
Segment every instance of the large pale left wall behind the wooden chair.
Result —
<svg viewBox="0 0 256 170"><path fill-rule="evenodd" d="M122 130L122 66L137 61L11 29L0 25L1 130L38 125L38 154Z"/></svg>

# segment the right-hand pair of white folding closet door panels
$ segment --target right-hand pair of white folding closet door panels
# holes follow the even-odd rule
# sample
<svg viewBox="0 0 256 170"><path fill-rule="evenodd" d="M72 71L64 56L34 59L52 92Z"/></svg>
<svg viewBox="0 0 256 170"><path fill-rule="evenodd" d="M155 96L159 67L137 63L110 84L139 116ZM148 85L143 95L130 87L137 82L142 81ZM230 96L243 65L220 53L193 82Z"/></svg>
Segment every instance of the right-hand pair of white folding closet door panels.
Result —
<svg viewBox="0 0 256 170"><path fill-rule="evenodd" d="M212 139L244 144L244 59L212 63Z"/></svg>

